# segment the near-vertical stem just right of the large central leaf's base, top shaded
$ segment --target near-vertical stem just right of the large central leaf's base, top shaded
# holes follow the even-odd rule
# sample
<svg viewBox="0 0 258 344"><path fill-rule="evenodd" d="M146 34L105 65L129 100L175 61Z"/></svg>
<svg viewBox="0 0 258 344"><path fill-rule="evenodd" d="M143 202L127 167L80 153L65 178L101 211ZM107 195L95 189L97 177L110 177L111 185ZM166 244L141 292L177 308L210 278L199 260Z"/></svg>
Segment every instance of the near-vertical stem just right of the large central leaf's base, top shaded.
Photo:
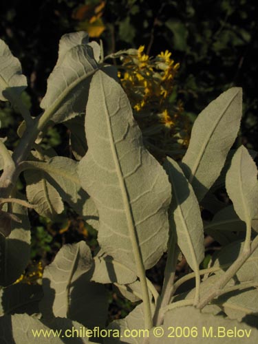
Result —
<svg viewBox="0 0 258 344"><path fill-rule="evenodd" d="M166 267L164 271L164 283L162 293L158 299L158 303L153 316L153 324L155 326L162 325L164 319L163 308L169 304L174 291L175 267L178 261L179 249L175 231L171 230L169 235L168 255L166 259Z"/></svg>

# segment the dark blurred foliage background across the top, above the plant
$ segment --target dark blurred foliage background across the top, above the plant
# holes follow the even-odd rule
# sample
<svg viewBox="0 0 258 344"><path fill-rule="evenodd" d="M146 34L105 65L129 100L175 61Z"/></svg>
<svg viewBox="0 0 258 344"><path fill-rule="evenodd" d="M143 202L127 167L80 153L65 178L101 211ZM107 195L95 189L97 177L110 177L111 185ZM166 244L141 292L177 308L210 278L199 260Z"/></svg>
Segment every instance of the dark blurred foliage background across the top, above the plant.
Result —
<svg viewBox="0 0 258 344"><path fill-rule="evenodd" d="M36 114L61 35L87 28L99 3L1 1L0 37L21 60ZM228 87L243 87L241 131L244 143L258 149L257 1L109 0L100 15L105 30L97 40L103 39L106 54L142 44L151 56L172 52L180 62L178 93L193 119Z"/></svg>

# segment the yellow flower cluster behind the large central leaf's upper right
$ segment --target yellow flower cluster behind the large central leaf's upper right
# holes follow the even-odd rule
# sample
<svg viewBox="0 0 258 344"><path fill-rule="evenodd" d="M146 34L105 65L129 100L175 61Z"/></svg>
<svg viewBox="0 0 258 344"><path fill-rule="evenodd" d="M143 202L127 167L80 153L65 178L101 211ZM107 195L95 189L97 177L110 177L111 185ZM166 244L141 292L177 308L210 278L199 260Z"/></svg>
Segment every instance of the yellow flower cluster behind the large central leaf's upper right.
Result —
<svg viewBox="0 0 258 344"><path fill-rule="evenodd" d="M121 56L118 76L133 107L143 135L159 149L182 148L189 143L189 123L175 98L174 79L180 67L166 50L151 58L144 45Z"/></svg>

